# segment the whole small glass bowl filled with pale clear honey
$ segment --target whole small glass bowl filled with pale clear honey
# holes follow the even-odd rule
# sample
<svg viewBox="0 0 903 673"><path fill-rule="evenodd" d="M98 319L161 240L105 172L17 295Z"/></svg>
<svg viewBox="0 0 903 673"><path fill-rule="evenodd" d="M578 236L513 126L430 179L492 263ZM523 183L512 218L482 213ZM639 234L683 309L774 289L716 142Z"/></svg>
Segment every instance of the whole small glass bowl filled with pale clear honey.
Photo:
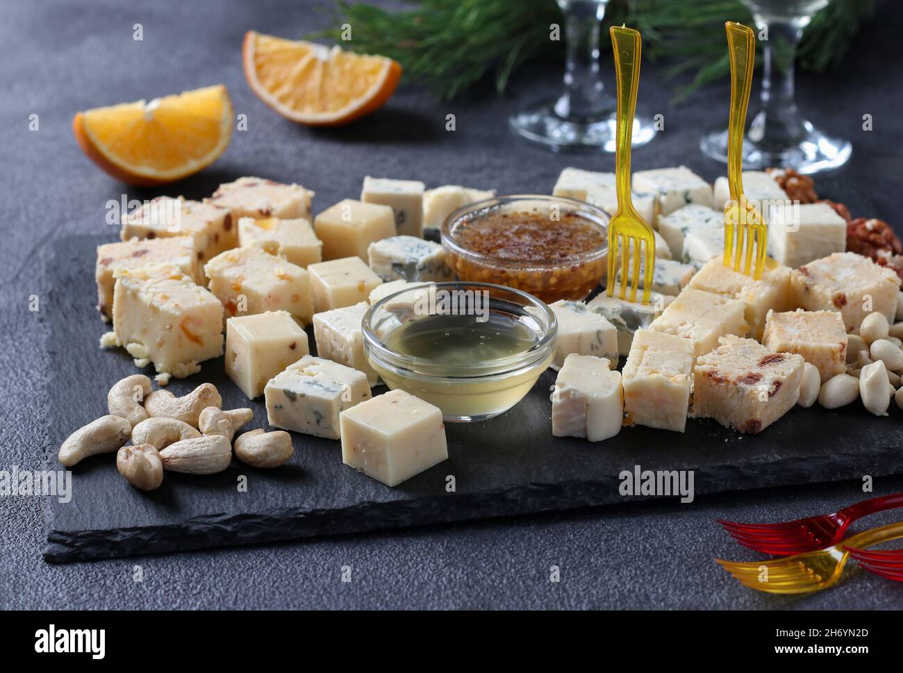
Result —
<svg viewBox="0 0 903 673"><path fill-rule="evenodd" d="M480 421L514 407L554 358L558 324L535 296L488 283L430 283L373 304L361 323L389 388Z"/></svg>

